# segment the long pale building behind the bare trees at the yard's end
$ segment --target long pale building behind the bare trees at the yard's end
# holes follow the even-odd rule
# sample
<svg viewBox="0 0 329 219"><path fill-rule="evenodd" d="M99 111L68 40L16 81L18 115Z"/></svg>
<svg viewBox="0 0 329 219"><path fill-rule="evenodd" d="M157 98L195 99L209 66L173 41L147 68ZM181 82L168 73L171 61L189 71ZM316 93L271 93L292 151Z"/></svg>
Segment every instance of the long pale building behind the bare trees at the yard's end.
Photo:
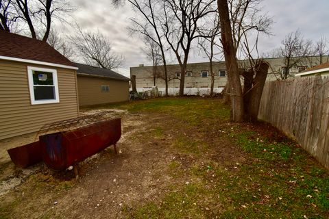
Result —
<svg viewBox="0 0 329 219"><path fill-rule="evenodd" d="M326 56L326 58L328 58ZM319 64L319 57L307 57L303 62L289 69L289 75L294 76L308 67ZM280 78L279 73L284 71L284 58L265 58L269 63L269 75L267 80L276 80ZM249 65L248 60L239 60L239 66ZM225 62L213 62L213 72L215 75L214 92L221 92L226 85L226 65ZM184 94L209 94L210 92L210 72L209 62L187 64L185 75ZM168 87L169 94L177 94L180 87L180 66L178 64L167 65L168 70ZM156 66L154 74L153 66L144 66L141 64L138 67L130 68L130 76L136 75L136 87L138 92L151 90L152 86L158 86L159 90L164 94L164 68Z"/></svg>

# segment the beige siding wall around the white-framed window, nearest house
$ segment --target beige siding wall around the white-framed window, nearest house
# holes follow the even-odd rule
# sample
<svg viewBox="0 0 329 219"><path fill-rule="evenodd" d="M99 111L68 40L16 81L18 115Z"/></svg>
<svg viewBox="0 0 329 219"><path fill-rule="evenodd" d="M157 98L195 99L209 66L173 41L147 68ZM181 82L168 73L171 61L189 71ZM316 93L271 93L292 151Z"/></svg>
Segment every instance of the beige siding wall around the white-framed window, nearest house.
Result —
<svg viewBox="0 0 329 219"><path fill-rule="evenodd" d="M56 69L60 103L31 105L27 66ZM78 116L75 70L0 60L0 139Z"/></svg>

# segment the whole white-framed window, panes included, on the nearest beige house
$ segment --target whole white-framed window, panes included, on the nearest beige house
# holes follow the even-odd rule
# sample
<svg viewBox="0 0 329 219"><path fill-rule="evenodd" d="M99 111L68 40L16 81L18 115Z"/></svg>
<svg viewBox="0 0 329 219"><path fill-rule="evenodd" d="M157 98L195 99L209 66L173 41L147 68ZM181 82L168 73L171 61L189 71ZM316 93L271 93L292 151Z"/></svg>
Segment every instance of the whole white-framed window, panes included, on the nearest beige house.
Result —
<svg viewBox="0 0 329 219"><path fill-rule="evenodd" d="M57 70L27 67L31 104L60 103Z"/></svg>

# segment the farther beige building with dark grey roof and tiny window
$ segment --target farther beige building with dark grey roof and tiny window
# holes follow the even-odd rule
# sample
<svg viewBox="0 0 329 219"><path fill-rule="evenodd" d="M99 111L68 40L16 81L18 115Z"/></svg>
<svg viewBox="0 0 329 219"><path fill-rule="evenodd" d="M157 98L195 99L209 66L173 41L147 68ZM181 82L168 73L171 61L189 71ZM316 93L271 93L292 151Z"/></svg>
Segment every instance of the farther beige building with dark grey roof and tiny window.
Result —
<svg viewBox="0 0 329 219"><path fill-rule="evenodd" d="M80 106L129 101L129 78L105 68L75 65Z"/></svg>

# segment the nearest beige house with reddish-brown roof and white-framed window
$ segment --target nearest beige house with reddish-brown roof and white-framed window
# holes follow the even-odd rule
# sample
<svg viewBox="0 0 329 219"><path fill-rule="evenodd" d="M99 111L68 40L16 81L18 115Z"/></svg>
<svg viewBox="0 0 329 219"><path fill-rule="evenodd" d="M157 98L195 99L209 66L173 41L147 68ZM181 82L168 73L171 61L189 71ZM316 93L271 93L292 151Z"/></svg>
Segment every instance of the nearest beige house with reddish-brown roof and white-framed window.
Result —
<svg viewBox="0 0 329 219"><path fill-rule="evenodd" d="M79 114L75 64L46 42L0 31L0 139Z"/></svg>

